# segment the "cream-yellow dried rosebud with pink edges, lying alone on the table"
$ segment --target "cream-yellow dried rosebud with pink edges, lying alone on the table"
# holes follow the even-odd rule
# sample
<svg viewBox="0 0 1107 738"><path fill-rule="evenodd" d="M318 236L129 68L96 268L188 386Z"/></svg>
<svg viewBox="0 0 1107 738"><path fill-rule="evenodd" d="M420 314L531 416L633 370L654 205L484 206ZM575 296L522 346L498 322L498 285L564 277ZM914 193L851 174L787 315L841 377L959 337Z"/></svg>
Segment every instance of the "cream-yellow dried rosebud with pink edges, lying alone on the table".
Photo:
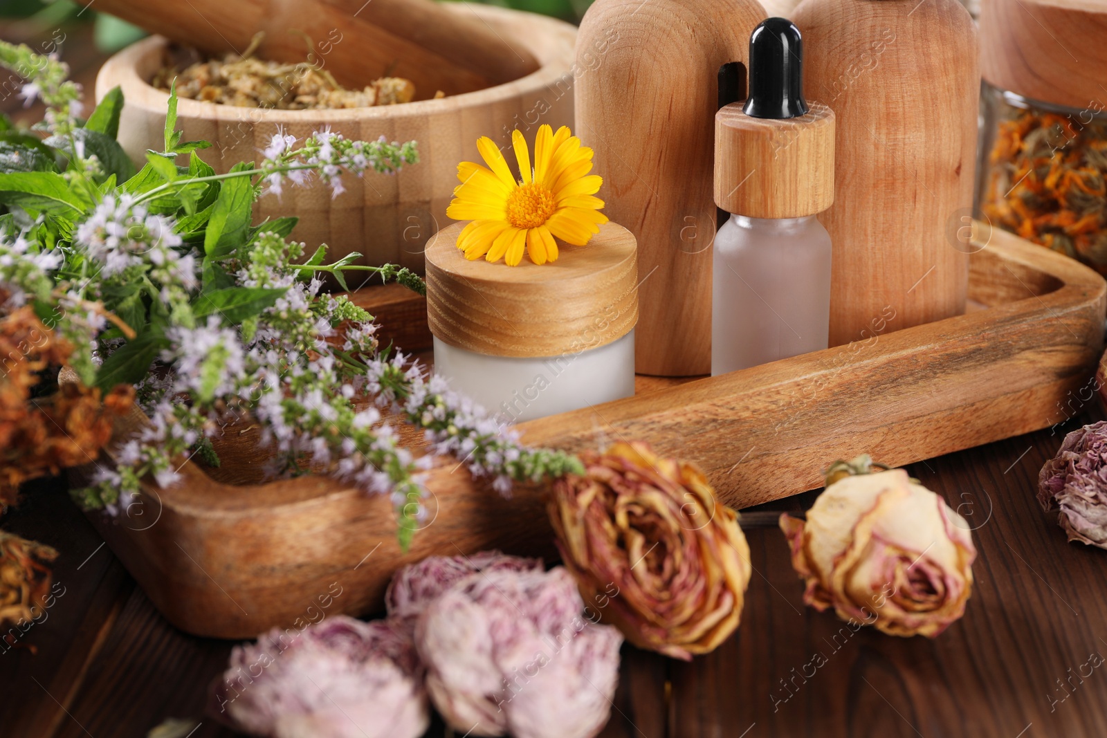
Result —
<svg viewBox="0 0 1107 738"><path fill-rule="evenodd" d="M806 522L780 516L804 602L889 635L934 637L972 592L969 524L903 469L872 466L835 464Z"/></svg>

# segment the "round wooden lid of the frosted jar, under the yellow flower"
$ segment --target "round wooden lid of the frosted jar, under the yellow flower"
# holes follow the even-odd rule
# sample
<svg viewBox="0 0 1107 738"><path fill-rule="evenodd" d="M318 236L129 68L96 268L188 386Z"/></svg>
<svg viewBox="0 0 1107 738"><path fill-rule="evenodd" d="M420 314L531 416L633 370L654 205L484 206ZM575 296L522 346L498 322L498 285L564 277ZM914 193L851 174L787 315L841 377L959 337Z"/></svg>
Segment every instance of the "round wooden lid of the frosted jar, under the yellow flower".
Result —
<svg viewBox="0 0 1107 738"><path fill-rule="evenodd" d="M608 222L588 246L559 243L552 263L468 261L464 224L426 247L426 316L439 341L492 356L559 356L598 349L638 322L638 247Z"/></svg>

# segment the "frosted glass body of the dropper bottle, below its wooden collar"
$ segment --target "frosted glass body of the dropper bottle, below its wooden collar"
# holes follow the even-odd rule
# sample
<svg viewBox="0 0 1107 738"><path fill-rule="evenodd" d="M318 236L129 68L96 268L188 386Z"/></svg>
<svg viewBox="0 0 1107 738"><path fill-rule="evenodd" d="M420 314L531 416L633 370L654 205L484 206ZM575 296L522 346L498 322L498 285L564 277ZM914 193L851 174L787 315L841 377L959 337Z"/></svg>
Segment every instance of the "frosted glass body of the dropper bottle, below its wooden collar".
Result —
<svg viewBox="0 0 1107 738"><path fill-rule="evenodd" d="M732 215L714 249L712 375L827 347L830 235L815 216Z"/></svg>

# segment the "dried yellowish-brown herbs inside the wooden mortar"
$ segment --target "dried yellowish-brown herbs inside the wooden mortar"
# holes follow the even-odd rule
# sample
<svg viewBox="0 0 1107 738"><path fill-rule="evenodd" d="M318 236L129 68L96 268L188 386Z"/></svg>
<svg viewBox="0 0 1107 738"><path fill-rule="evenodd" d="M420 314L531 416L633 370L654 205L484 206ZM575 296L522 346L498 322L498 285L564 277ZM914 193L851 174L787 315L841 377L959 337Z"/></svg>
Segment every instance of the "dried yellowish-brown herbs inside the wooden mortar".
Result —
<svg viewBox="0 0 1107 738"><path fill-rule="evenodd" d="M322 64L255 59L259 42L260 34L241 56L229 53L223 60L203 59L195 49L173 49L151 84L168 92L176 79L178 97L288 111L373 107L415 98L415 84L403 77L382 76L362 90L348 90Z"/></svg>

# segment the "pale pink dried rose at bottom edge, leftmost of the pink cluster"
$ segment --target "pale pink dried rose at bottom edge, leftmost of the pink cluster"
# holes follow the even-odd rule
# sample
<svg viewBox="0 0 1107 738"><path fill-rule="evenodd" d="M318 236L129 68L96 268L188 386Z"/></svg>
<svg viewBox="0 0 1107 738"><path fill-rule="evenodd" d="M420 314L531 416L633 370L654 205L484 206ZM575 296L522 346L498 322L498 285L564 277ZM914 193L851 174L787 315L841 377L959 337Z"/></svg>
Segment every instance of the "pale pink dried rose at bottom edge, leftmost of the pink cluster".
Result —
<svg viewBox="0 0 1107 738"><path fill-rule="evenodd" d="M217 708L271 738L418 738L430 723L408 630L335 615L236 646Z"/></svg>

